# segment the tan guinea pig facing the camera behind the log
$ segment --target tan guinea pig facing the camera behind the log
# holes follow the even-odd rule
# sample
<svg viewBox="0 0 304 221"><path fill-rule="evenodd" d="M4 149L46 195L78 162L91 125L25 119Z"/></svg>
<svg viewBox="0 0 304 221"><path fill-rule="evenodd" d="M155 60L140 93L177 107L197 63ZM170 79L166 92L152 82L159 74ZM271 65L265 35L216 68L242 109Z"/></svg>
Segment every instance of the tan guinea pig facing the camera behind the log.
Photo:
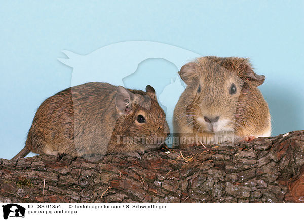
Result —
<svg viewBox="0 0 304 221"><path fill-rule="evenodd" d="M268 105L246 58L200 57L181 67L186 89L173 116L179 146L252 140L271 135Z"/></svg>

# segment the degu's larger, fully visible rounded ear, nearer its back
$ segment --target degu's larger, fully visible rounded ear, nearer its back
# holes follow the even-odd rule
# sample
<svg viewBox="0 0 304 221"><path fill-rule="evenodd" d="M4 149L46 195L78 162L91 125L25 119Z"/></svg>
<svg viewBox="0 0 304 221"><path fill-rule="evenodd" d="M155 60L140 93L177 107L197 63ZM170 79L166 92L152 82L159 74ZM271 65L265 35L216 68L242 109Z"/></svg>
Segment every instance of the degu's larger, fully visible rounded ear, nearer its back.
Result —
<svg viewBox="0 0 304 221"><path fill-rule="evenodd" d="M131 112L132 99L133 99L133 94L129 90L127 90L122 86L117 87L115 105L122 114L127 115Z"/></svg>

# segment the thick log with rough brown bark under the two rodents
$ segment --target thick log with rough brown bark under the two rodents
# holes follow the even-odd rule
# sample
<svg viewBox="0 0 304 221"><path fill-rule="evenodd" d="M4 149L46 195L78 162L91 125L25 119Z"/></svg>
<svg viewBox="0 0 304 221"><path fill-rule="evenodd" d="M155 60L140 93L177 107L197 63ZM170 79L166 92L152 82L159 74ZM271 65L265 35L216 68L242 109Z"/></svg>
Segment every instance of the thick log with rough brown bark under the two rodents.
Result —
<svg viewBox="0 0 304 221"><path fill-rule="evenodd" d="M304 131L141 160L0 159L0 202L301 202L303 164Z"/></svg>

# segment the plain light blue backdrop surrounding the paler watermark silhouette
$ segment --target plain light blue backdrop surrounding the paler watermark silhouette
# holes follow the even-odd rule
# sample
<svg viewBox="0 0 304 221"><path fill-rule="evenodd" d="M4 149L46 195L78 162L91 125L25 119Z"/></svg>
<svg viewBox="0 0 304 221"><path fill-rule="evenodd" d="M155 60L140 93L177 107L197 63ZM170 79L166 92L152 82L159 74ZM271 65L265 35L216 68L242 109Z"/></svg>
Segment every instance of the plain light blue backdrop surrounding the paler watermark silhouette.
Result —
<svg viewBox="0 0 304 221"><path fill-rule="evenodd" d="M70 86L61 50L88 54L131 40L250 57L267 77L260 90L273 135L304 129L303 12L303 1L0 1L0 158L23 148L41 102ZM177 69L153 59L137 71Z"/></svg>

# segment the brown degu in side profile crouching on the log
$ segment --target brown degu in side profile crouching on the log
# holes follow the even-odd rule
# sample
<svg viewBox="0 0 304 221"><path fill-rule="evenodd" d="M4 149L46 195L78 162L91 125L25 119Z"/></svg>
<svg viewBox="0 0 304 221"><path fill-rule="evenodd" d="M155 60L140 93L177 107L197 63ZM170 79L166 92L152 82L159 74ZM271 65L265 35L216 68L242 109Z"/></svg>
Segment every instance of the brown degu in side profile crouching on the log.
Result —
<svg viewBox="0 0 304 221"><path fill-rule="evenodd" d="M155 90L90 82L46 99L37 109L25 148L13 159L37 154L101 159L158 148L170 133Z"/></svg>

